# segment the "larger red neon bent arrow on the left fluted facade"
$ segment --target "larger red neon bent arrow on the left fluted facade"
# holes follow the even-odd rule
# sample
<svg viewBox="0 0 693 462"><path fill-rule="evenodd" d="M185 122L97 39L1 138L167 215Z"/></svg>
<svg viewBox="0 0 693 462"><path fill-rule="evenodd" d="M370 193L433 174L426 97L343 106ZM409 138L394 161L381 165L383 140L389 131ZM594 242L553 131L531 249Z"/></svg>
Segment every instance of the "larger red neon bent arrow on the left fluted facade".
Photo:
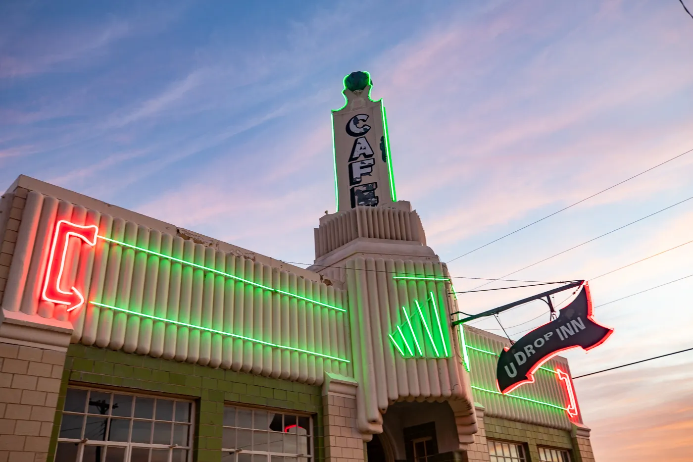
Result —
<svg viewBox="0 0 693 462"><path fill-rule="evenodd" d="M70 291L64 291L62 286L62 276L67 266L67 248L70 237L78 237L89 244L96 245L96 235L98 226L82 226L60 220L55 225L55 236L51 245L48 266L46 268L46 282L42 292L42 298L48 302L58 305L67 305L67 311L72 311L84 305L85 298L75 286Z"/></svg>

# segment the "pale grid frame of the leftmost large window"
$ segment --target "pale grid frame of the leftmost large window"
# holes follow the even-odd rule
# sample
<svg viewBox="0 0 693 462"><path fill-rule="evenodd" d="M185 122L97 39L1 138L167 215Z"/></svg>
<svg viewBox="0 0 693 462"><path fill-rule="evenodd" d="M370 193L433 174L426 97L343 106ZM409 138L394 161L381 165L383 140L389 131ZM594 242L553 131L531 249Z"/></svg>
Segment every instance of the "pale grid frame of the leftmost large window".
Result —
<svg viewBox="0 0 693 462"><path fill-rule="evenodd" d="M60 427L58 429L58 438L56 438L56 454L55 456L58 455L58 445L60 443L74 443L78 445L78 450L76 454L76 462L83 462L83 456L84 456L84 450L86 446L100 446L100 447L125 447L125 456L123 458L123 462L130 462L130 458L132 455L132 449L141 447L141 448L146 448L149 450L168 450L168 457L166 459L166 462L174 462L172 461L173 459L173 450L178 449L178 450L186 450L186 459L184 462L192 462L193 460L193 439L195 437L195 400L190 400L190 399L185 399L182 397L174 397L170 395L157 395L157 394L152 394L152 393L138 393L138 392L132 392L132 391L126 391L126 390L121 390L119 388L102 388L98 386L85 386L85 385L72 385L68 384L67 389L75 389L75 390L84 390L87 391L87 398L85 399L85 409L81 412L76 412L76 411L65 411L64 410L64 405L67 403L67 392L65 395L65 401L63 404L63 409L60 411L60 427L62 427L62 420L64 416L82 416L82 427L80 428L80 435L84 434L84 432L87 430L86 425L87 425L87 418L89 416L91 417L101 417L101 418L107 418L107 429L105 430L105 433L109 433L109 429L111 426L112 420L128 420L130 424L128 425L128 441L109 441L109 440L92 440L88 438L62 438L60 437ZM152 408L152 418L136 418L134 416L134 407L135 404L137 403L137 399L133 400L132 402L132 409L130 411L130 417L122 417L122 416L112 416L112 410L113 410L113 401L109 402L109 413L107 414L95 414L95 413L89 413L89 396L91 395L92 391L96 391L97 393L109 393L111 395L128 395L132 396L134 398L137 397L145 397L145 398L152 398L154 400L170 400L172 402L184 402L190 405L190 411L188 413L188 422L177 422L175 420L175 413L172 416L172 420L170 420L171 425L175 425L176 423L178 424L184 424L187 425L188 427L188 435L187 435L187 440L188 444L185 446L177 445L175 443L171 444L159 444L159 443L134 443L132 442L132 422L137 422L137 421L143 421L143 422L152 422L152 430L150 434L150 438L152 438L152 434L155 431L155 422L169 422L167 420L157 420L156 419L156 413L155 413L155 408ZM174 411L175 412L175 411ZM172 438L173 438L173 427L172 427ZM107 438L107 436L106 436ZM149 456L149 460L151 459L151 454ZM104 461L105 462L105 461ZM176 461L179 462L179 461Z"/></svg>

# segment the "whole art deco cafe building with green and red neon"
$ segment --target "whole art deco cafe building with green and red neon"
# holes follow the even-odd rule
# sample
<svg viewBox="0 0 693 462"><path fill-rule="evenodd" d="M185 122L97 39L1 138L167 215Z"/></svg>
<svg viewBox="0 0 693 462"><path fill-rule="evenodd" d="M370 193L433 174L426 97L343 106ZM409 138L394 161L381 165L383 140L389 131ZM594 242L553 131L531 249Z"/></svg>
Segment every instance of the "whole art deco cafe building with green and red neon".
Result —
<svg viewBox="0 0 693 462"><path fill-rule="evenodd" d="M593 461L570 368L501 394L396 198L368 74L303 269L20 176L0 200L0 460Z"/></svg>

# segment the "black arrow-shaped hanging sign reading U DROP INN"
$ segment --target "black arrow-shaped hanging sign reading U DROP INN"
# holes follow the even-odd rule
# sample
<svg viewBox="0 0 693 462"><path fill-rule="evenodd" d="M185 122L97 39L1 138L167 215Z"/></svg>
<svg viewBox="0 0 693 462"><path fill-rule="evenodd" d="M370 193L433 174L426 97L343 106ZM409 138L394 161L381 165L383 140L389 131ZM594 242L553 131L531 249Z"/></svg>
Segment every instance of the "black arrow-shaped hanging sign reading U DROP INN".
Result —
<svg viewBox="0 0 693 462"><path fill-rule="evenodd" d="M534 372L543 363L571 348L591 350L611 335L613 329L595 323L587 283L559 317L516 341L500 352L495 376L501 393L509 393L522 384L534 382Z"/></svg>

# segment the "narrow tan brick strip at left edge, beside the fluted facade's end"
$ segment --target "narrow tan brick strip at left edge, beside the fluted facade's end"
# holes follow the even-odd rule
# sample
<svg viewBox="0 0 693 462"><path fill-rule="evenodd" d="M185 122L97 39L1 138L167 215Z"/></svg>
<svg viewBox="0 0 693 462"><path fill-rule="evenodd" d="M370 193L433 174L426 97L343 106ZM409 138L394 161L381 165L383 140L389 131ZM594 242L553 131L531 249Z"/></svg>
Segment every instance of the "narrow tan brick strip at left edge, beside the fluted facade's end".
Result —
<svg viewBox="0 0 693 462"><path fill-rule="evenodd" d="M15 189L14 194L6 194L0 203L0 303L2 303L10 262L15 253L15 243L19 232L21 213L24 211L28 191L24 188ZM0 462L3 462L0 460Z"/></svg>

